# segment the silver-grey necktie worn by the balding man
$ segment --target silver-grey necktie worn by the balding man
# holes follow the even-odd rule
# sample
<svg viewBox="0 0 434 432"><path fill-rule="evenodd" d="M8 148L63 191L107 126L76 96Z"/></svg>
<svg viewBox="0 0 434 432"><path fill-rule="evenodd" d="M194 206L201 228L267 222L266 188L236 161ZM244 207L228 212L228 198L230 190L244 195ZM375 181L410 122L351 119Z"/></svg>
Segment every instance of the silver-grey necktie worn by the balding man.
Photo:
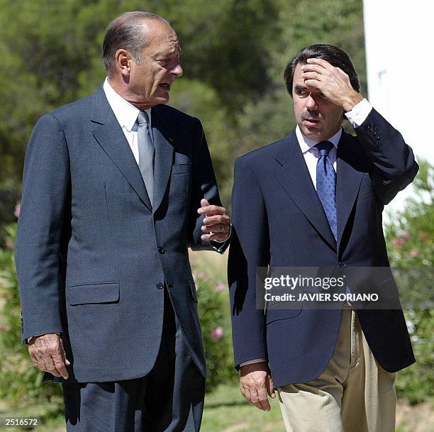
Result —
<svg viewBox="0 0 434 432"><path fill-rule="evenodd" d="M149 117L146 111L140 111L138 118L138 148L139 168L142 173L143 182L152 206L154 196L154 156L155 148L149 132Z"/></svg>

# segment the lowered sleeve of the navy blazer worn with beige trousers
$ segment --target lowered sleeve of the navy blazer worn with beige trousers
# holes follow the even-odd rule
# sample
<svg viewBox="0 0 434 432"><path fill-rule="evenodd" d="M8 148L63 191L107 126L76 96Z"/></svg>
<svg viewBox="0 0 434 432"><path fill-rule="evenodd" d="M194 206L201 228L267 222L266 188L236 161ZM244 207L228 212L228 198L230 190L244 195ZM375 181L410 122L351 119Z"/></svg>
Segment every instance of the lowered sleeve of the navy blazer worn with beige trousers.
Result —
<svg viewBox="0 0 434 432"><path fill-rule="evenodd" d="M262 301L258 299L257 304L256 289L257 267L269 265L267 212L260 182L243 158L235 162L232 211L228 283L238 368L248 360L267 359L265 314L263 308L257 307Z"/></svg>

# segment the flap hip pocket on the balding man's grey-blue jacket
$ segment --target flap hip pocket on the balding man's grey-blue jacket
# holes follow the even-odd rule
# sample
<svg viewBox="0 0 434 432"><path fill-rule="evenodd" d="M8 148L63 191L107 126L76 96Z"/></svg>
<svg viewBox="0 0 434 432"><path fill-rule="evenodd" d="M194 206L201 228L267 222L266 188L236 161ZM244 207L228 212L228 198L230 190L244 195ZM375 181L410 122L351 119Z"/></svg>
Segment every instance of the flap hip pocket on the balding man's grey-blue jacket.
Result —
<svg viewBox="0 0 434 432"><path fill-rule="evenodd" d="M69 306L116 303L119 301L119 284L108 282L105 284L72 285L67 289L66 301Z"/></svg>

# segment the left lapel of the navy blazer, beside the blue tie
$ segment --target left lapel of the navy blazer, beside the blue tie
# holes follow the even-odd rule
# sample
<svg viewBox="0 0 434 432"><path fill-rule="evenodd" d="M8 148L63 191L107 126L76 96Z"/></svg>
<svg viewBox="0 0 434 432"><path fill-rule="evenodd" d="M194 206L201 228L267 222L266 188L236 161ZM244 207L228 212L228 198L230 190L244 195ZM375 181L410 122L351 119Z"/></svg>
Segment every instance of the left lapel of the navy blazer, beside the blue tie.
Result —
<svg viewBox="0 0 434 432"><path fill-rule="evenodd" d="M336 240L313 187L295 131L282 140L274 158L277 162L274 172L278 182L316 231L336 250Z"/></svg>

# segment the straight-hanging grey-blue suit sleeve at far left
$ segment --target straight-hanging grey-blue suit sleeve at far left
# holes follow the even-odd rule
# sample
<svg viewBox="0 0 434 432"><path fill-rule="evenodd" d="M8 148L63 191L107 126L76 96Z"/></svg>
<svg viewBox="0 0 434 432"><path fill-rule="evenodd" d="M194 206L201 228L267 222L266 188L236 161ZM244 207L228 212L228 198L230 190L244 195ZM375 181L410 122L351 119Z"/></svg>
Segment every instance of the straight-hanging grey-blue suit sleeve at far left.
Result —
<svg viewBox="0 0 434 432"><path fill-rule="evenodd" d="M15 261L22 306L23 342L62 333L69 212L69 155L62 127L47 114L30 136L23 174Z"/></svg>

